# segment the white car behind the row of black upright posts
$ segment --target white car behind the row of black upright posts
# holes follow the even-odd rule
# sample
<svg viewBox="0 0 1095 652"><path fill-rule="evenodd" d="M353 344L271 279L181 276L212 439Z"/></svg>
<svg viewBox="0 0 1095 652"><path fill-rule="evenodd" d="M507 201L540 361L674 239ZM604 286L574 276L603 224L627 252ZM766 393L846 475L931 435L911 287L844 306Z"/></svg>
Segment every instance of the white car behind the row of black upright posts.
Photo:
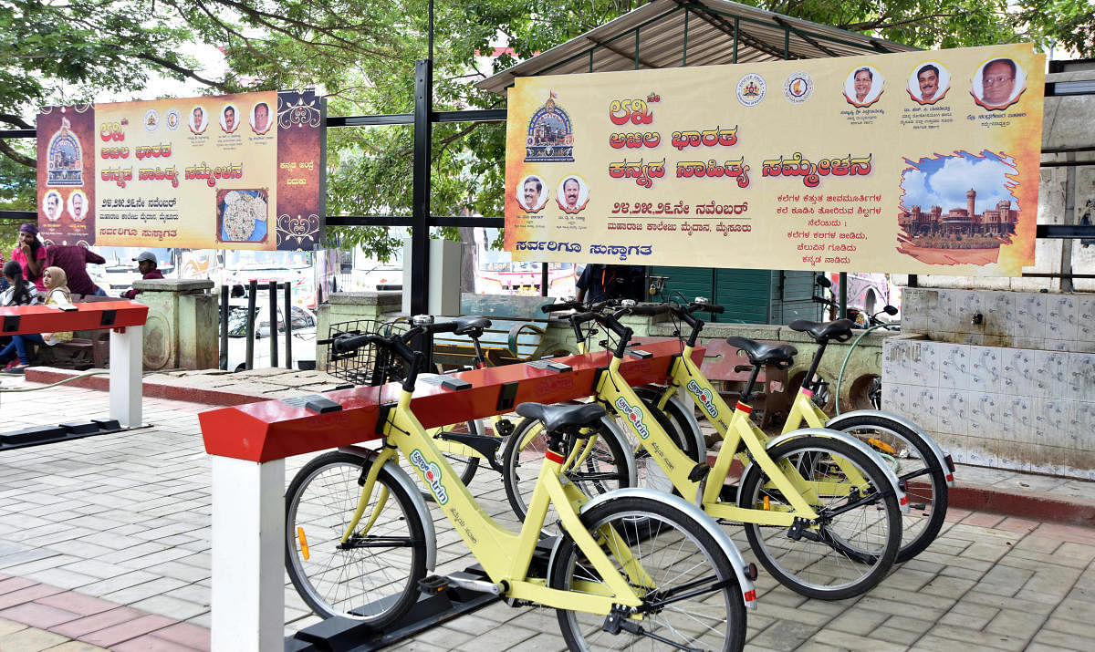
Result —
<svg viewBox="0 0 1095 652"><path fill-rule="evenodd" d="M277 361L278 366L285 366L285 315L284 306L277 306ZM315 369L315 314L312 311L292 306L292 368L300 370ZM270 366L270 324L269 304L255 304L255 345L252 369ZM219 340L218 340L219 341ZM228 313L228 369L243 371L246 369L247 356L247 301L233 299Z"/></svg>

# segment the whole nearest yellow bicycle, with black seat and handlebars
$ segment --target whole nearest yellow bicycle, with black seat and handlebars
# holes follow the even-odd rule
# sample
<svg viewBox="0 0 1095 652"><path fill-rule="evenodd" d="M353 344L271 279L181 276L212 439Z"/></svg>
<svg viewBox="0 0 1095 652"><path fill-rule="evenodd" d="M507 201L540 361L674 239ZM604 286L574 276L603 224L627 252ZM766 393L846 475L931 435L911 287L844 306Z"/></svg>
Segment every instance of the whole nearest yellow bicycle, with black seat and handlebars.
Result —
<svg viewBox="0 0 1095 652"><path fill-rule="evenodd" d="M448 583L494 593L511 605L554 607L573 650L744 647L756 570L745 567L716 524L665 493L631 488L589 499L565 479L562 469L579 432L599 421L603 408L518 406L519 415L543 423L550 445L525 524L514 533L487 515L413 414L420 353L400 336L344 336L332 349L348 354L362 346L394 354L407 370L397 401L382 406L382 446L323 454L301 468L286 492L286 568L318 614L382 628L406 613L420 586ZM399 456L429 489L485 579L427 580L436 559L433 520ZM533 575L549 505L564 534L553 542L546 571Z"/></svg>

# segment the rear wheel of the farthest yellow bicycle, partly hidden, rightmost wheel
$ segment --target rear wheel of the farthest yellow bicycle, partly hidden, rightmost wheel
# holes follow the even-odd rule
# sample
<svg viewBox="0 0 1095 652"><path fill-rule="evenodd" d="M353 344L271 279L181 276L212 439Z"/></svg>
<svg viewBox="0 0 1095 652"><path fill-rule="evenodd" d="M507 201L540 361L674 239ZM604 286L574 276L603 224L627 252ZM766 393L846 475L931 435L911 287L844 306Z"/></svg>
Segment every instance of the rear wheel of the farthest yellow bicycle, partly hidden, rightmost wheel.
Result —
<svg viewBox="0 0 1095 652"><path fill-rule="evenodd" d="M901 549L896 563L923 552L938 536L949 500L946 473L932 447L919 432L883 415L840 417L826 428L862 440L890 462L909 497L909 512L901 514Z"/></svg>

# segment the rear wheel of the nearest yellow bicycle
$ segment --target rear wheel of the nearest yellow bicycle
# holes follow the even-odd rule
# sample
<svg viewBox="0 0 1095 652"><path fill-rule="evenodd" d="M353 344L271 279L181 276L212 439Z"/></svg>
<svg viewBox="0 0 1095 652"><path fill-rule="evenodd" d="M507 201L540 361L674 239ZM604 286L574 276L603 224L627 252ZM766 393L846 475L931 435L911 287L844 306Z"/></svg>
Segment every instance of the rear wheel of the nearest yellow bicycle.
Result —
<svg viewBox="0 0 1095 652"><path fill-rule="evenodd" d="M691 516L664 502L623 497L595 505L581 515L581 521L591 533L613 527L621 535L618 540L627 542L630 556L655 581L647 597L672 595L673 589L682 595L677 602L646 613L642 620L630 620L631 625L670 639L669 644L683 645L680 649L736 652L745 647L746 608L737 575L714 537ZM646 531L639 533L639 527ZM626 577L620 556L613 554L613 544L601 540L609 559ZM599 581L569 536L563 537L552 560L548 577L554 589L573 591L576 582ZM724 581L725 585L715 586ZM604 631L604 616L556 609L556 617L570 650L668 647L637 633Z"/></svg>

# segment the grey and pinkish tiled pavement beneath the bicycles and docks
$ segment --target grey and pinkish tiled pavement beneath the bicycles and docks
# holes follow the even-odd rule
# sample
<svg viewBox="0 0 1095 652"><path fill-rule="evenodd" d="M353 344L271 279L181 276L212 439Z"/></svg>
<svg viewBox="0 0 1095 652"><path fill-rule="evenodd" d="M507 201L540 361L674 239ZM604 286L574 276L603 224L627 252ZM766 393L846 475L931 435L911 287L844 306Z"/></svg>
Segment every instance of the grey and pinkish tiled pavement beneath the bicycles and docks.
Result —
<svg viewBox="0 0 1095 652"><path fill-rule="evenodd" d="M146 398L152 428L0 453L0 651L208 649L203 409ZM0 395L4 430L106 411L106 394L88 389ZM290 459L287 474L302 462ZM964 476L1092 490L980 469L960 469ZM481 471L473 489L505 520L496 479ZM856 599L802 598L762 573L749 649L1092 649L1095 529L961 510L948 516L927 551ZM447 525L438 524L438 537L442 570L469 562ZM286 605L287 633L315 621L291 587ZM556 650L557 632L553 613L496 604L397 649Z"/></svg>

